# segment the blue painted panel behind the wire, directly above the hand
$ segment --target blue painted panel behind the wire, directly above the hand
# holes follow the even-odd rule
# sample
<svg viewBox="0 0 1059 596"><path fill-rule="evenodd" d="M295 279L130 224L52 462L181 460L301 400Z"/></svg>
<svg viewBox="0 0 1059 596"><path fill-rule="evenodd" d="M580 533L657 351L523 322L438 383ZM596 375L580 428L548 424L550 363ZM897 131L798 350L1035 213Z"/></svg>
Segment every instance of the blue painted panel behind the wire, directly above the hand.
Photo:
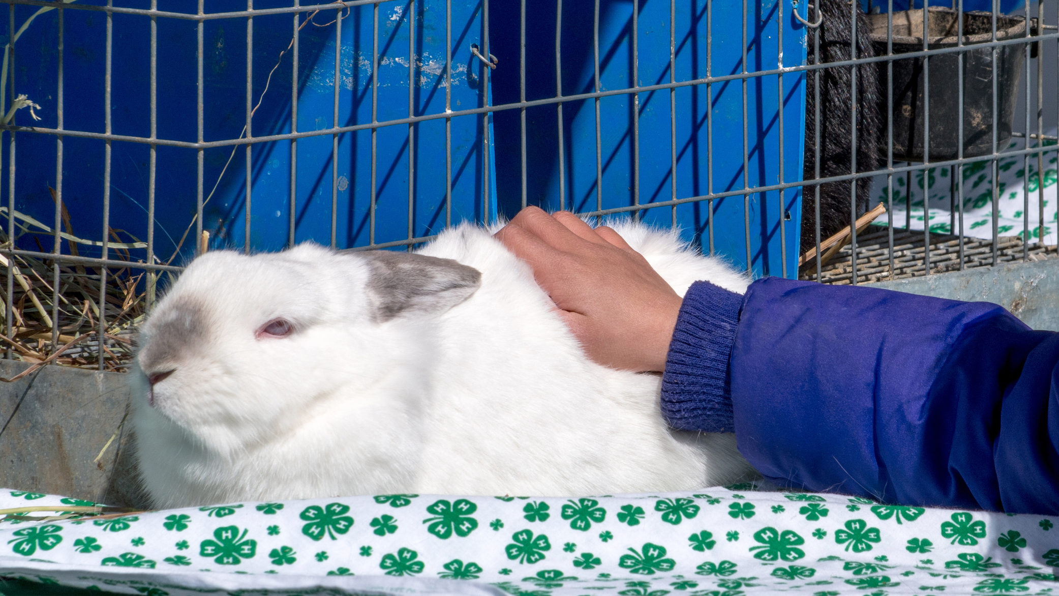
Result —
<svg viewBox="0 0 1059 596"><path fill-rule="evenodd" d="M779 8L783 5L783 20ZM627 0L604 0L599 15L600 86L603 90L632 85L632 10ZM641 86L669 82L669 2L640 0L638 18L638 72ZM497 104L519 98L517 2L490 6L493 53L501 62L493 75ZM805 32L791 16L788 2L750 2L743 21L736 2L713 2L707 23L705 0L676 2L676 68L678 82L775 69L779 65L778 34L783 30L783 65L797 66L805 59ZM555 3L535 4L526 22L526 98L556 95ZM566 3L561 22L562 93L591 92L593 83L592 4ZM747 64L742 62L742 24L746 22ZM713 35L708 26L713 25ZM746 94L743 93L746 90ZM777 76L680 87L675 93L675 122L670 122L667 89L640 93L639 181L635 178L633 98L606 96L599 101L599 153L602 198L611 209L634 204L639 187L641 203L666 201L674 196L670 127L676 128L676 197L776 184L802 179L804 139L803 77L787 74L782 88ZM744 103L746 100L746 103ZM743 109L746 106L746 112ZM783 143L779 107L783 106ZM707 113L712 122L707 125ZM521 199L520 114L508 110L496 114L497 184L501 209L517 212ZM596 196L596 116L593 100L562 105L562 175L558 159L559 116L554 105L526 110L527 180L531 204L548 209L592 211ZM746 121L747 142L743 143ZM712 129L712 130L711 130ZM712 133L713 151L710 150ZM782 157L782 159L780 159ZM780 161L783 171L780 171ZM746 165L744 165L746 163ZM712 166L712 173L711 173ZM712 181L711 181L712 174ZM561 185L560 185L561 184ZM800 191L753 194L744 213L742 196L717 199L714 207L714 248L739 268L748 261L756 275L783 272L780 225L786 232L787 274L796 271ZM669 225L670 207L643 212L644 219ZM750 254L747 251L744 216L750 220ZM710 247L708 207L704 202L682 204L676 219L685 237Z"/></svg>

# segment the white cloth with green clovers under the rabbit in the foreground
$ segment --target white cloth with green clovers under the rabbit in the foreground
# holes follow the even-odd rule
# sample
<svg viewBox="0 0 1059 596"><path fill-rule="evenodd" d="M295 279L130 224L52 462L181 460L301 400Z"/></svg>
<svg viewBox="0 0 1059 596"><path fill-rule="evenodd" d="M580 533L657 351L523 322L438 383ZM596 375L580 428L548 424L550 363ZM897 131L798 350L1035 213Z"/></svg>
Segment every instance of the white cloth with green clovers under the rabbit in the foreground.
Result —
<svg viewBox="0 0 1059 596"><path fill-rule="evenodd" d="M0 492L0 509L78 504ZM39 517L41 513L32 513ZM123 594L1059 593L1059 518L753 485L379 495L0 522L0 576Z"/></svg>

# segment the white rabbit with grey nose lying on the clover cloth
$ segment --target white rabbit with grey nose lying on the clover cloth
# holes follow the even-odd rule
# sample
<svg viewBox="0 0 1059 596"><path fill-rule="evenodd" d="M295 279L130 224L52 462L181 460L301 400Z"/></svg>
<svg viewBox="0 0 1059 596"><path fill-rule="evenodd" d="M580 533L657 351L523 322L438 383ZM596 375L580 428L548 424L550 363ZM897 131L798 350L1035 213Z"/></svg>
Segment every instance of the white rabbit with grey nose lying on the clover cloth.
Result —
<svg viewBox="0 0 1059 596"><path fill-rule="evenodd" d="M613 227L681 295L696 279L747 288L676 233ZM443 267L387 320L366 253L306 243L195 259L145 323L130 375L154 505L667 491L754 474L733 435L667 429L659 376L591 362L489 230L451 229L419 254L477 269L480 286ZM257 338L274 318L294 331ZM147 375L169 369L151 393Z"/></svg>

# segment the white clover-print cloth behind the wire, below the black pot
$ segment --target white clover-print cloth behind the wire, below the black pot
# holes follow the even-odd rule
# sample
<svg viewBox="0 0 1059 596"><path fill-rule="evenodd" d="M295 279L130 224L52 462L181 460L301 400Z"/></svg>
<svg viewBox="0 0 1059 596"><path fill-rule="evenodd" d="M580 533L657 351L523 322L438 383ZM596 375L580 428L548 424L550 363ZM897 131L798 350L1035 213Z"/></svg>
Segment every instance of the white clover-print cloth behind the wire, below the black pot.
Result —
<svg viewBox="0 0 1059 596"><path fill-rule="evenodd" d="M1055 136L1052 130L1047 134ZM1045 141L1045 143L1049 143ZM1054 144L1054 143L1052 143ZM1026 146L1025 140L1012 139L1007 149L1022 149ZM1036 143L1031 146L1036 146ZM1057 217L1057 176L1056 168L1059 162L1059 152L1055 150L1045 151L1041 156L1044 168L1044 242L1055 245L1059 241L1059 217ZM1023 156L1012 156L1001 158L997 162L1000 171L998 181L998 213L997 231L1001 236L1019 236L1026 229L1026 214L1029 215L1030 239L1037 239L1040 231L1040 192L1038 188L1041 177L1037 171L1037 156L1028 156L1028 168L1026 159ZM903 165L897 163L896 165ZM911 229L922 230L923 220L923 179L927 180L927 188L930 192L930 227L931 232L940 234L958 234L958 206L952 199L952 177L949 166L932 167L925 176L922 170L912 174L912 209L909 210L909 188L905 175L895 175L893 177L893 221L894 228L904 229L907 215L911 214ZM975 161L964 165L964 235L972 238L992 238L992 162L989 160ZM1024 189L1028 189L1028 209ZM876 203L886 204L887 186L885 176L876 176L872 180L873 205ZM952 214L956 212L956 225L952 227ZM886 225L889 216L883 214L875 220L879 225Z"/></svg>

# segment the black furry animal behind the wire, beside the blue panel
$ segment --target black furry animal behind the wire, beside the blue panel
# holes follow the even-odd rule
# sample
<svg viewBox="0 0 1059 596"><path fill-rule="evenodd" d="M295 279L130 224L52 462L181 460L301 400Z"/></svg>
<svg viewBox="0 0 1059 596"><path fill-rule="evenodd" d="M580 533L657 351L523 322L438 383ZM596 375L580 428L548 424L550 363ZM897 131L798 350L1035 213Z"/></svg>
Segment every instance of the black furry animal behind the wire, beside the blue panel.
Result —
<svg viewBox="0 0 1059 596"><path fill-rule="evenodd" d="M816 29L809 29L807 49L809 64L816 64L814 48L820 41L820 64L848 60L852 4L849 0L815 0L813 3L823 15L823 22ZM858 3L859 4L859 3ZM810 21L815 21L816 13L811 12ZM872 47L870 25L867 15L857 7L857 56L875 56ZM881 156L882 109L880 105L881 85L876 64L857 67L857 97L852 100L854 67L831 67L809 71L806 76L806 129L805 129L805 180L815 179L815 95L816 75L820 73L820 178L842 176L852 173L851 140L854 106L857 113L857 171L877 169ZM870 179L857 181L857 215L867 211ZM849 182L820 184L820 239L837 233L850 223ZM802 253L816 245L816 185L806 185L802 200Z"/></svg>

